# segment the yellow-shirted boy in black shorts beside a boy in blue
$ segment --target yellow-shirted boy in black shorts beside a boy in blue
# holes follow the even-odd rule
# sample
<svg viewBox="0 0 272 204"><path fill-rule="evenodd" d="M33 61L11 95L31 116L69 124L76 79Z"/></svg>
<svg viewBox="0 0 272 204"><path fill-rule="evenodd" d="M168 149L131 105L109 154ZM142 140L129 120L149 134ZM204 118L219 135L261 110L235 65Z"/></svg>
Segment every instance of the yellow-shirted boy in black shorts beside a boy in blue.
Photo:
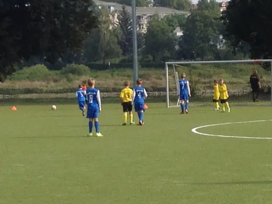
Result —
<svg viewBox="0 0 272 204"><path fill-rule="evenodd" d="M123 107L123 124L127 125L128 112L130 114L130 124L135 124L133 122L133 114L132 114L132 89L130 89L130 82L126 81L124 83L125 88L122 89L120 93L121 105Z"/></svg>

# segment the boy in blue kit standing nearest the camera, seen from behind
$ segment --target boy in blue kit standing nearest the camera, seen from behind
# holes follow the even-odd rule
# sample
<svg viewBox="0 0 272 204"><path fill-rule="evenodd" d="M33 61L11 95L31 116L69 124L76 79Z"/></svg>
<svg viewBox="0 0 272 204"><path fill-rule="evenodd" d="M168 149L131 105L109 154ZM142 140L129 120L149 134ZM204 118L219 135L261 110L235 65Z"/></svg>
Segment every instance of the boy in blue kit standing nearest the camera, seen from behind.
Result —
<svg viewBox="0 0 272 204"><path fill-rule="evenodd" d="M95 81L93 78L88 80L89 87L86 90L86 103L87 108L87 118L89 119L89 134L88 136L93 136L92 134L92 122L94 121L95 131L97 137L103 137L99 131L98 115L101 112L101 98L100 91L94 88Z"/></svg>

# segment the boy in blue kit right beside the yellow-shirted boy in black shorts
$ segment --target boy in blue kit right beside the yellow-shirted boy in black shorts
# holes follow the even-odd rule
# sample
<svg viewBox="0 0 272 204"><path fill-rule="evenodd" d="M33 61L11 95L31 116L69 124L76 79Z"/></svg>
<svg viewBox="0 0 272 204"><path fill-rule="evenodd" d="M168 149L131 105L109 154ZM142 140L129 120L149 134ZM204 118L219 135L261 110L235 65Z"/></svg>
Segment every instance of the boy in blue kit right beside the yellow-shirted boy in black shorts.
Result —
<svg viewBox="0 0 272 204"><path fill-rule="evenodd" d="M137 79L137 86L133 89L132 105L134 104L135 112L138 113L139 123L137 125L144 125L143 112L144 100L147 98L147 93L142 87L142 80Z"/></svg>

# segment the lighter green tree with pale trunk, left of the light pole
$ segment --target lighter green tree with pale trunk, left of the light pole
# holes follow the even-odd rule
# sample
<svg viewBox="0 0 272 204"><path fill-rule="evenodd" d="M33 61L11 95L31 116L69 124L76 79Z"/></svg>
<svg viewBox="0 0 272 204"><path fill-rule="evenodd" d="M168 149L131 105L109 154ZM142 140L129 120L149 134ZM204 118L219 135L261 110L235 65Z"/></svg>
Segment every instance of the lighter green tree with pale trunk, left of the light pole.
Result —
<svg viewBox="0 0 272 204"><path fill-rule="evenodd" d="M98 28L93 30L86 40L84 57L88 61L106 60L119 57L122 50L118 45L120 40L119 28L114 28L114 22L110 19L110 13L106 7L96 12L98 16Z"/></svg>

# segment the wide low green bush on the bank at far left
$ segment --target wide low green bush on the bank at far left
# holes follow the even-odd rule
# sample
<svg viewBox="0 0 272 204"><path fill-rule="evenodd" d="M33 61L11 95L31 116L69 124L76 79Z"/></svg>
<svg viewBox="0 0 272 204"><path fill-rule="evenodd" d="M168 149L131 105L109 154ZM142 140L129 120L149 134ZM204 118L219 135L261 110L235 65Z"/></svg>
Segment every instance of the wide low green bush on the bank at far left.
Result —
<svg viewBox="0 0 272 204"><path fill-rule="evenodd" d="M57 71L50 71L43 64L37 64L31 67L23 67L21 70L14 72L8 79L13 81L48 81L51 80Z"/></svg>

